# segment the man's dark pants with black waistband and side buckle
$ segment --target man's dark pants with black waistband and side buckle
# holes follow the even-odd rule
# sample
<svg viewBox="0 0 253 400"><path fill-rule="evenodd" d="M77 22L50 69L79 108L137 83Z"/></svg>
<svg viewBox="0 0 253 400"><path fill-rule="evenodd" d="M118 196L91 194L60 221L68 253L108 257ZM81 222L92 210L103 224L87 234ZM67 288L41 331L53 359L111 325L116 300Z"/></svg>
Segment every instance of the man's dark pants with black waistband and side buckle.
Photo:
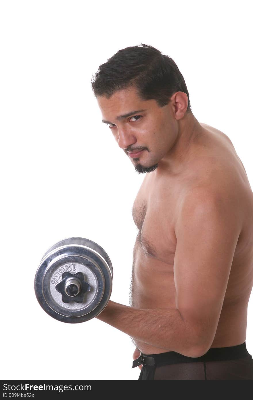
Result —
<svg viewBox="0 0 253 400"><path fill-rule="evenodd" d="M210 348L201 357L191 358L177 352L143 354L133 361L142 364L139 380L253 380L253 359L246 343Z"/></svg>

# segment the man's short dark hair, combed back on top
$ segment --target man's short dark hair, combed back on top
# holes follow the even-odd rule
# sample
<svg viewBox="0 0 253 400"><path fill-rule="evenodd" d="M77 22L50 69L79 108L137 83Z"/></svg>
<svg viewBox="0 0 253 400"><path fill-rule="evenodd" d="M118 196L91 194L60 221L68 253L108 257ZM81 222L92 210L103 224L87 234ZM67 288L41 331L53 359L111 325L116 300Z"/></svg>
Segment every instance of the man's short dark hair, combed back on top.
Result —
<svg viewBox="0 0 253 400"><path fill-rule="evenodd" d="M167 105L175 92L188 97L186 112L191 112L189 93L175 62L153 46L140 43L119 50L92 75L94 95L110 98L121 89L134 86L142 100L154 99L159 107Z"/></svg>

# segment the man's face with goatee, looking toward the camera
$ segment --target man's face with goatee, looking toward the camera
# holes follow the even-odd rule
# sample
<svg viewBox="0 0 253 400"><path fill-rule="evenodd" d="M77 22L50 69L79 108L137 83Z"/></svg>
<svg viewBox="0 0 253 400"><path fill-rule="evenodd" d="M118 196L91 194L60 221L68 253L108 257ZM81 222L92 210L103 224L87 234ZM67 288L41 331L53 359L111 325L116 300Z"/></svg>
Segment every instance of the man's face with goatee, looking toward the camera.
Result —
<svg viewBox="0 0 253 400"><path fill-rule="evenodd" d="M154 171L175 142L170 103L160 108L155 100L141 100L133 87L97 100L103 122L135 170L139 174Z"/></svg>

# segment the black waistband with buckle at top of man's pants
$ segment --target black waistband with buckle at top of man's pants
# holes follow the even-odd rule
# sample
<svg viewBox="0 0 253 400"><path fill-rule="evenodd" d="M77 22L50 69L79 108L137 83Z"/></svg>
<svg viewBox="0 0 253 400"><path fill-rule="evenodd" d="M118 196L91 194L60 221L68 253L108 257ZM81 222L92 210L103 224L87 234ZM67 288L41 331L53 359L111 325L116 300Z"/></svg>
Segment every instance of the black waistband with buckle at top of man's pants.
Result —
<svg viewBox="0 0 253 400"><path fill-rule="evenodd" d="M178 364L181 362L200 362L200 361L224 361L224 360L234 360L238 358L243 358L249 355L246 348L246 342L238 344L237 346L230 347L215 347L210 348L201 357L187 357L183 354L169 351L159 354L144 354L141 353L140 356L133 360L132 368L138 365L158 365L158 364Z"/></svg>

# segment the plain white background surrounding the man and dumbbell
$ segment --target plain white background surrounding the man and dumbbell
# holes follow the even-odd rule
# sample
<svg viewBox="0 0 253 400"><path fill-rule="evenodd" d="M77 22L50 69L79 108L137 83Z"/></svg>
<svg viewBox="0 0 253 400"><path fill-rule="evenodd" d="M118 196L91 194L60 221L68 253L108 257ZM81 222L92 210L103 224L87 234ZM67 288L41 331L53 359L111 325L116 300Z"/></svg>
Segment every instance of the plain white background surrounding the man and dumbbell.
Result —
<svg viewBox="0 0 253 400"><path fill-rule="evenodd" d="M46 250L82 236L112 260L111 300L129 305L131 208L144 175L102 124L90 80L122 48L158 48L183 74L198 121L232 140L252 186L249 8L248 1L1 1L3 379L138 378L129 336L96 318L59 322L34 294ZM251 295L251 354L252 338ZM66 349L76 354L73 368Z"/></svg>

